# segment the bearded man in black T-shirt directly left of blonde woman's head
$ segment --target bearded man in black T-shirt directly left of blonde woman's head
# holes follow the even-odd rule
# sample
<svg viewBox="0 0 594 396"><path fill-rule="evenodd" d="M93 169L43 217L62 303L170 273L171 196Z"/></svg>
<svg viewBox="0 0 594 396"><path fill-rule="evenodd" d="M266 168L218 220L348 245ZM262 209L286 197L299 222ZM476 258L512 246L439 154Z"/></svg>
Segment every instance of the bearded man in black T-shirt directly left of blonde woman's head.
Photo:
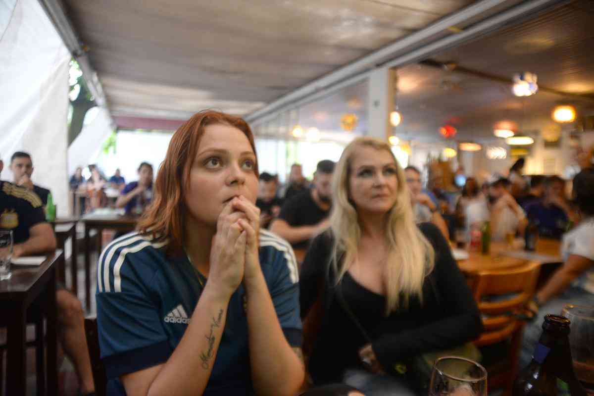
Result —
<svg viewBox="0 0 594 396"><path fill-rule="evenodd" d="M307 249L309 239L326 229L330 213L331 181L334 162L318 162L314 187L286 199L280 215L270 224L270 230L283 237L295 249Z"/></svg>

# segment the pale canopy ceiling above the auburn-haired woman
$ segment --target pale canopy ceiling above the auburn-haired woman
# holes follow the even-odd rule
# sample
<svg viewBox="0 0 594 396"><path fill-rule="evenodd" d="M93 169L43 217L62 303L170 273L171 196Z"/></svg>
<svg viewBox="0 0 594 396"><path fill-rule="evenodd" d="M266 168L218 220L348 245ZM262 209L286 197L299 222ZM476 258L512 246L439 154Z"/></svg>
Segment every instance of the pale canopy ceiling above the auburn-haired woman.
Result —
<svg viewBox="0 0 594 396"><path fill-rule="evenodd" d="M245 115L473 0L64 2L117 122Z"/></svg>

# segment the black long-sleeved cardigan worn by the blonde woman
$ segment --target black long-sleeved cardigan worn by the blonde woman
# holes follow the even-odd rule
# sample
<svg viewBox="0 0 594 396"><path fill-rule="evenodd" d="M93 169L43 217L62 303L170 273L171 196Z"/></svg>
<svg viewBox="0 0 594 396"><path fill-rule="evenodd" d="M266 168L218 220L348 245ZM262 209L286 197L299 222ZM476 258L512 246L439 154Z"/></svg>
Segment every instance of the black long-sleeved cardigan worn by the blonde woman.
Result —
<svg viewBox="0 0 594 396"><path fill-rule="evenodd" d="M482 331L478 307L450 246L433 224L420 224L419 228L435 250L435 266L425 278L423 302L410 299L409 308L391 313L377 331L371 331L372 348L387 372L418 354L460 346L478 338ZM330 265L332 246L330 233L317 236L301 267L302 318L323 285L324 317L308 368L315 384L340 381L346 368L359 364L358 350L368 342L336 301L336 277Z"/></svg>

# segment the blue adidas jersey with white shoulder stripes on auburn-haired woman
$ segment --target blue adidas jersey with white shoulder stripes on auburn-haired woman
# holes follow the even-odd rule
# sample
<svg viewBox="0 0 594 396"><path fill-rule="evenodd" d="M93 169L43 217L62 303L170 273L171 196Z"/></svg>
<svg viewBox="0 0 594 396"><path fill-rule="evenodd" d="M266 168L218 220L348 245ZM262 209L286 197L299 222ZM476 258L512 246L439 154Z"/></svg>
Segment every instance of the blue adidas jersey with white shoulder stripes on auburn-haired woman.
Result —
<svg viewBox="0 0 594 396"><path fill-rule="evenodd" d="M189 321L200 320L191 316L206 279L185 255L166 256L165 245L130 233L100 255L97 325L110 395L125 395L118 376L165 363ZM291 346L301 346L298 268L289 243L261 230L260 264L280 326ZM253 394L244 295L239 286L229 301L204 395Z"/></svg>

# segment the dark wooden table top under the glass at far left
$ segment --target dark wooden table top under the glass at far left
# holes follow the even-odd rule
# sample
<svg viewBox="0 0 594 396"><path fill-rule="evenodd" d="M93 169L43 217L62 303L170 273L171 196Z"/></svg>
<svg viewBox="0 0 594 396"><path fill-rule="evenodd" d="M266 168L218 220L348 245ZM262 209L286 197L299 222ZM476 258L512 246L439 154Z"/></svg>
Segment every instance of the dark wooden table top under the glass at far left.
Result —
<svg viewBox="0 0 594 396"><path fill-rule="evenodd" d="M0 281L0 300L23 299L37 281L42 278L52 265L62 259L64 252L57 249L46 256L40 265L11 265L12 277Z"/></svg>

